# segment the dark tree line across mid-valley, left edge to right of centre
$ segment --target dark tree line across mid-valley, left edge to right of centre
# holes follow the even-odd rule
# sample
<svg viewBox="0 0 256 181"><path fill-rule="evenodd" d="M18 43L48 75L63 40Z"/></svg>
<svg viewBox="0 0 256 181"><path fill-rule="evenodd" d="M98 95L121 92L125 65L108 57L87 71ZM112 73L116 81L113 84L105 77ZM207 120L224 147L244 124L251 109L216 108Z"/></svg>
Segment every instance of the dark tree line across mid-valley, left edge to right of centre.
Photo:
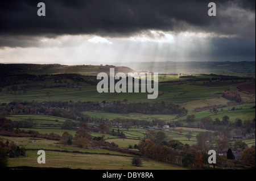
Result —
<svg viewBox="0 0 256 181"><path fill-rule="evenodd" d="M51 116L64 117L67 119L83 120L84 111L106 111L113 113L145 113L145 114L184 114L187 113L184 107L179 107L172 103L107 103L101 107L99 102L52 102L44 101L38 103L35 101L10 102L0 104L0 115L17 114L44 114Z"/></svg>

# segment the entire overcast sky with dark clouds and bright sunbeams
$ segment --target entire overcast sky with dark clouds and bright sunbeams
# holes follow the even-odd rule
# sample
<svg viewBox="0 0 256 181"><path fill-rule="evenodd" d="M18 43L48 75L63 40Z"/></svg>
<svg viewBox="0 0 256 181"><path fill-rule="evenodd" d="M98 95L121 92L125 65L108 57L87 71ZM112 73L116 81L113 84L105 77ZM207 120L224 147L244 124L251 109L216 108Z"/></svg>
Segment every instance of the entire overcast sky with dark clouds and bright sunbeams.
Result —
<svg viewBox="0 0 256 181"><path fill-rule="evenodd" d="M0 24L0 63L255 61L255 0L4 0Z"/></svg>

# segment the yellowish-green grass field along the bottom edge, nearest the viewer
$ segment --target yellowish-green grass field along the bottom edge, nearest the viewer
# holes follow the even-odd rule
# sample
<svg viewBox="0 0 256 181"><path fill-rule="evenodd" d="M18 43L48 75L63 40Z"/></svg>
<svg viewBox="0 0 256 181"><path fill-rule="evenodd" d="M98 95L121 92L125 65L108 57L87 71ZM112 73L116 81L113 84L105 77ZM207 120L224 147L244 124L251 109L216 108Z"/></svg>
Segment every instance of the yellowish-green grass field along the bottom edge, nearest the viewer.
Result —
<svg viewBox="0 0 256 181"><path fill-rule="evenodd" d="M71 169L89 170L184 170L184 167L159 162L152 159L142 159L142 166L131 165L132 157L104 154L71 154L56 151L46 151L46 164L37 163L37 151L27 151L27 157L9 158L9 166L32 167L68 167Z"/></svg>

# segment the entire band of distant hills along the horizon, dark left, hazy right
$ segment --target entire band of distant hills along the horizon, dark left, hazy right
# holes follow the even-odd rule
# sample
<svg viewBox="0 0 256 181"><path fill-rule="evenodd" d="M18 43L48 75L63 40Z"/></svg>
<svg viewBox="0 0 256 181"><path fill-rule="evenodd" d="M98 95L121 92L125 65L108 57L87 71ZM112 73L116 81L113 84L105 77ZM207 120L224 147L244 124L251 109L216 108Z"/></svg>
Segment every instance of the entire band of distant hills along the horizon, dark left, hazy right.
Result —
<svg viewBox="0 0 256 181"><path fill-rule="evenodd" d="M121 65L121 64L116 64ZM115 73L134 71L151 71L159 74L222 74L239 77L255 77L255 61L241 62L133 62L116 65L60 65L60 64L0 64L0 76L15 74L81 74L97 75L100 72L109 73L115 68Z"/></svg>

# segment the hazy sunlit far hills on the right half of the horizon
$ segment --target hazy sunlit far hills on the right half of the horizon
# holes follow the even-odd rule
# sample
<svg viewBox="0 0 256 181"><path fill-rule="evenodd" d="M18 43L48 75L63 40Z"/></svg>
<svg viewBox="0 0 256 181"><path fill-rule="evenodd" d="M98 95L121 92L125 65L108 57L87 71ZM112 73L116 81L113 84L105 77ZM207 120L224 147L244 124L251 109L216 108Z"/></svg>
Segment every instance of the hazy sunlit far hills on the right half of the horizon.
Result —
<svg viewBox="0 0 256 181"><path fill-rule="evenodd" d="M255 61L241 62L133 62L122 64L135 71L152 71L158 73L198 74L198 73L247 73L245 76L255 77Z"/></svg>

